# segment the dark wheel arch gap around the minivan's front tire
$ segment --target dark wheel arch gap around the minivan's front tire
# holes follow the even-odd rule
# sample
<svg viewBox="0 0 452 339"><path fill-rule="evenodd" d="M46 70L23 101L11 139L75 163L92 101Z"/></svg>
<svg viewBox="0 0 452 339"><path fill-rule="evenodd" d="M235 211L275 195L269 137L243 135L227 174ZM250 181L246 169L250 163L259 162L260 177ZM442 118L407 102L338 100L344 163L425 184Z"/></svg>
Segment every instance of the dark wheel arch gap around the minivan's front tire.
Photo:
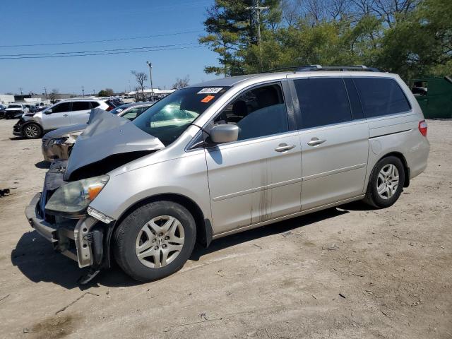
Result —
<svg viewBox="0 0 452 339"><path fill-rule="evenodd" d="M151 203L153 201L172 201L184 206L187 210L189 210L191 215L193 215L193 218L195 220L196 242L202 244L205 247L208 247L210 245L213 237L213 228L210 220L208 218L205 218L203 211L197 203L195 203L191 198L182 194L156 194L155 196L148 196L141 199L140 201L137 201L136 203L133 203L133 205L124 210L124 213L122 213L118 220L114 222L114 225L108 228L104 244L105 249L107 249L107 251L105 252L104 263L107 264L107 267L110 267L112 263L112 235L114 234L114 231L121 224L122 220L124 220L124 218L126 218L126 216L131 213L132 210L135 210L136 208L139 208L140 206Z"/></svg>

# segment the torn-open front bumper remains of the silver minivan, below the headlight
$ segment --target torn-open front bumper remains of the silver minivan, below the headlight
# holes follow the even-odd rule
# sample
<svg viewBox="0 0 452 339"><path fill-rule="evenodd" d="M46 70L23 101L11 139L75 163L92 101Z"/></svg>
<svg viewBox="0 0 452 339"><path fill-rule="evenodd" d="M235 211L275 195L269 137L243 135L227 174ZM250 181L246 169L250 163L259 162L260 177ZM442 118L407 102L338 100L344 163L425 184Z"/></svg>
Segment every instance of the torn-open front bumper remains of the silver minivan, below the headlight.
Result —
<svg viewBox="0 0 452 339"><path fill-rule="evenodd" d="M103 233L93 230L95 218L78 220L56 217L55 222L45 220L40 211L41 194L36 194L25 208L28 222L44 239L52 243L55 251L78 262L79 267L100 266L103 257Z"/></svg>

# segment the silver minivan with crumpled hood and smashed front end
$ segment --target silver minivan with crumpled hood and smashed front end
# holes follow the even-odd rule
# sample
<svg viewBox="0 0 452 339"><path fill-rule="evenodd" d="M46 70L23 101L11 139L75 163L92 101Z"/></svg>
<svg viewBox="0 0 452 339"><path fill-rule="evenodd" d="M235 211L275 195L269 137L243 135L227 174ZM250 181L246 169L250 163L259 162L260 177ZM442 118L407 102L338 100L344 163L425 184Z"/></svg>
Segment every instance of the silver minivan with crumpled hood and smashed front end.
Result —
<svg viewBox="0 0 452 339"><path fill-rule="evenodd" d="M358 70L357 70L358 69ZM386 208L427 166L427 124L395 74L300 67L177 90L140 117L100 114L26 215L54 249L150 281L198 241L364 200Z"/></svg>

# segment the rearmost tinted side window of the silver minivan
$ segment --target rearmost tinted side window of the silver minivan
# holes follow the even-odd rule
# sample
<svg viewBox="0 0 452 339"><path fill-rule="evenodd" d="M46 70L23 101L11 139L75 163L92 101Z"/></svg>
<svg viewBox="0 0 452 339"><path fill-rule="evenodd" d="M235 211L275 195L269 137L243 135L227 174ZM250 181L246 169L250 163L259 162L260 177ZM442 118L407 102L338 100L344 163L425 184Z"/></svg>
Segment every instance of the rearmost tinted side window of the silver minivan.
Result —
<svg viewBox="0 0 452 339"><path fill-rule="evenodd" d="M403 90L390 78L354 78L364 117L407 112L411 109Z"/></svg>

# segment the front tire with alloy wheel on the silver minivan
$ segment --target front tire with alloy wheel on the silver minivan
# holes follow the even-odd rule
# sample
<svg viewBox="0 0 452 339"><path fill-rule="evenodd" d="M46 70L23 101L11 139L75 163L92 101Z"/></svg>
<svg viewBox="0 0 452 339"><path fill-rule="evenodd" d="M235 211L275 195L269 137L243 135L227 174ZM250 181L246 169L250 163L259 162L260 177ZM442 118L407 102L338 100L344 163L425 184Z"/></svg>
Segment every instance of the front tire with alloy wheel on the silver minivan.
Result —
<svg viewBox="0 0 452 339"><path fill-rule="evenodd" d="M191 213L178 203L155 201L136 208L121 221L114 232L114 258L131 278L148 282L181 269L195 242Z"/></svg>

